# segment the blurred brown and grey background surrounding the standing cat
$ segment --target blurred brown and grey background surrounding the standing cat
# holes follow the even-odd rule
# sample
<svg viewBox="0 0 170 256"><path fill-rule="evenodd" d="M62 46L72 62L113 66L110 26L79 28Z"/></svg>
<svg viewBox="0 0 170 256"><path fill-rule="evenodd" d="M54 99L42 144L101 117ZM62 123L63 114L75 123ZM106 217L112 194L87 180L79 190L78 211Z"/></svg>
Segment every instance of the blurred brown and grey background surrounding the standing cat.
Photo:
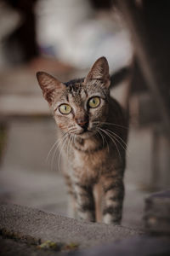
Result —
<svg viewBox="0 0 170 256"><path fill-rule="evenodd" d="M67 216L36 73L81 78L105 55L111 95L122 102L131 83L122 224L142 228L144 197L170 185L169 45L166 0L0 0L0 201Z"/></svg>

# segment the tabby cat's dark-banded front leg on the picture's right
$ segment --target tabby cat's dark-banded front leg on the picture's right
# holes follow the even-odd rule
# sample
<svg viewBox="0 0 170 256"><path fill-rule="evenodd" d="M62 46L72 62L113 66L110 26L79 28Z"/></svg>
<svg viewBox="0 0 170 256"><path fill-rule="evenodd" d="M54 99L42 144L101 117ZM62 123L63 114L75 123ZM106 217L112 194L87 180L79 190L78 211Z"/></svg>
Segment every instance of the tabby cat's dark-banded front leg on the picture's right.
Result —
<svg viewBox="0 0 170 256"><path fill-rule="evenodd" d="M105 207L103 220L105 224L121 224L124 185L122 176L106 175L103 177Z"/></svg>

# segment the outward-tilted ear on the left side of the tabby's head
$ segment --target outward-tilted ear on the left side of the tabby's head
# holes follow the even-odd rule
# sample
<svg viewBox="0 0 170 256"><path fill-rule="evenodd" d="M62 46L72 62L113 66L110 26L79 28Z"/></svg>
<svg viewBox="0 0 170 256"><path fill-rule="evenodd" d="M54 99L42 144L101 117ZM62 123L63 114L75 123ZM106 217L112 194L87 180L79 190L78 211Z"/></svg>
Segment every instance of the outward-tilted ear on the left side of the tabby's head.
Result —
<svg viewBox="0 0 170 256"><path fill-rule="evenodd" d="M58 79L54 79L53 76L45 72L37 72L37 81L42 89L44 98L49 104L52 104L54 101L54 96L65 90L65 84L62 84Z"/></svg>

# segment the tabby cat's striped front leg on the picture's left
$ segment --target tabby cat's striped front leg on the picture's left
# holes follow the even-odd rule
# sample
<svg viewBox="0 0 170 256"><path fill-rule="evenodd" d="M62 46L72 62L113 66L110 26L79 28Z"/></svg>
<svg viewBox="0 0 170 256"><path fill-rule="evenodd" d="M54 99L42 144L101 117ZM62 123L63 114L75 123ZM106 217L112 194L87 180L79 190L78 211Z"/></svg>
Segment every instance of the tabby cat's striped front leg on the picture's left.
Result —
<svg viewBox="0 0 170 256"><path fill-rule="evenodd" d="M79 218L88 221L95 221L95 204L93 188L83 185L81 182L75 183L77 196L77 215Z"/></svg>

